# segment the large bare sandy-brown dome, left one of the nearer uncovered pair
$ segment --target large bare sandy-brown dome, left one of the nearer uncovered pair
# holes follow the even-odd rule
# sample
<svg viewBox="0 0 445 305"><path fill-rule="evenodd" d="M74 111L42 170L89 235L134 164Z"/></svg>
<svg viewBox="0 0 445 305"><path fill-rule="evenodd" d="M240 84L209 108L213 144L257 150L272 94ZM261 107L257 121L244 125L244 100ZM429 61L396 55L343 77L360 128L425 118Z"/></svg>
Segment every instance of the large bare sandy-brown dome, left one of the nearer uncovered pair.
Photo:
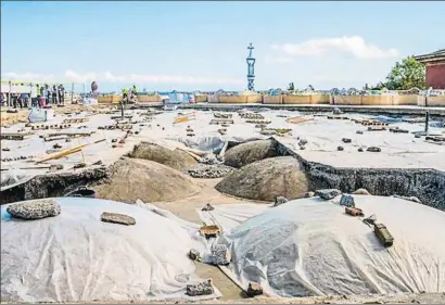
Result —
<svg viewBox="0 0 445 305"><path fill-rule="evenodd" d="M98 198L135 203L179 200L200 190L191 178L156 162L140 158L117 161L109 181L94 186Z"/></svg>

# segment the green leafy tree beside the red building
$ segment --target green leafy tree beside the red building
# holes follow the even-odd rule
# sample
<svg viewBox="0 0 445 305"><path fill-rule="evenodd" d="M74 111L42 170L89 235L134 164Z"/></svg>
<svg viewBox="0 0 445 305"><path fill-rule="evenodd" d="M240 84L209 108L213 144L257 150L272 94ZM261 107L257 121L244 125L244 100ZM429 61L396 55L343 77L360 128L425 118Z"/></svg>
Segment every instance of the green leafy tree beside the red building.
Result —
<svg viewBox="0 0 445 305"><path fill-rule="evenodd" d="M412 56L402 60L402 63L396 62L386 76L386 81L379 84L378 87L385 87L389 90L425 89L424 65Z"/></svg>

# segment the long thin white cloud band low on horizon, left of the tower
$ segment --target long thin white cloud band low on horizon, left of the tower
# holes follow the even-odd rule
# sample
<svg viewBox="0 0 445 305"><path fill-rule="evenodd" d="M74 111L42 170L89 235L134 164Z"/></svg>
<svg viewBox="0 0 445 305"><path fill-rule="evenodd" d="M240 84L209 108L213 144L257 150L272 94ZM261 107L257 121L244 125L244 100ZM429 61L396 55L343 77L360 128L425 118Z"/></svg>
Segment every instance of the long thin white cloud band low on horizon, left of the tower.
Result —
<svg viewBox="0 0 445 305"><path fill-rule="evenodd" d="M129 75L114 75L111 72L104 73L76 73L72 69L65 71L63 76L55 76L53 74L43 75L35 73L4 73L2 78L11 80L35 81L35 82L89 82L92 80L101 82L135 82L135 84L189 84L189 85L240 85L244 84L242 79L234 78L215 78L215 77L194 77L194 76L178 76L178 75L150 75L150 74L129 74Z"/></svg>

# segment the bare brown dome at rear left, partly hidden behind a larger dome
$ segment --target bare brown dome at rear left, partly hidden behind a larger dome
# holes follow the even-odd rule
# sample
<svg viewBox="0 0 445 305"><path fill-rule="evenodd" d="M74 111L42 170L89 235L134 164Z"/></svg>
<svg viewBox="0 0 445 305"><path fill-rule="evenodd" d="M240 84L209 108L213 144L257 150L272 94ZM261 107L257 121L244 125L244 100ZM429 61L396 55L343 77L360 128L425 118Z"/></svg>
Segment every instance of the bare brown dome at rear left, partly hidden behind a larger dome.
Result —
<svg viewBox="0 0 445 305"><path fill-rule="evenodd" d="M148 142L141 142L139 145L136 145L129 156L154 161L178 170L183 170L198 163L183 150L169 150L167 148Z"/></svg>

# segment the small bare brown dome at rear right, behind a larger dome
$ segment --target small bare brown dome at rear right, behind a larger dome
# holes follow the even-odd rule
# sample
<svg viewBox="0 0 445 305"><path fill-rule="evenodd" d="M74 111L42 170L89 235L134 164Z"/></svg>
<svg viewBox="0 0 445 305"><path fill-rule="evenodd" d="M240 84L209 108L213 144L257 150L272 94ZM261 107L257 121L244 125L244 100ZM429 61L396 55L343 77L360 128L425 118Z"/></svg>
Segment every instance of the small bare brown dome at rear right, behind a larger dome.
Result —
<svg viewBox="0 0 445 305"><path fill-rule="evenodd" d="M271 139L250 141L236 145L226 152L225 164L240 168L256 161L277 156L276 145L276 142Z"/></svg>

